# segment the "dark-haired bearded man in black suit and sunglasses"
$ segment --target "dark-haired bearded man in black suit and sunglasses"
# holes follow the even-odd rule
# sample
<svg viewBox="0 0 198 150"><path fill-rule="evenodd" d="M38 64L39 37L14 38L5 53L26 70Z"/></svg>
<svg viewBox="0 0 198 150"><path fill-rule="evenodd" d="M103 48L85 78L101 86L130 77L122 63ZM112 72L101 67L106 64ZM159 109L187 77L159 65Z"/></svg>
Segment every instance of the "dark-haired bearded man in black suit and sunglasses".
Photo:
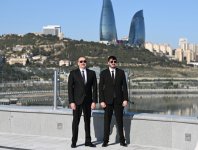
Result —
<svg viewBox="0 0 198 150"><path fill-rule="evenodd" d="M118 69L116 63L116 57L110 56L108 58L109 67L100 74L99 99L100 105L104 109L103 147L108 146L113 111L120 136L120 145L127 146L123 133L123 109L128 104L127 83L124 71Z"/></svg>

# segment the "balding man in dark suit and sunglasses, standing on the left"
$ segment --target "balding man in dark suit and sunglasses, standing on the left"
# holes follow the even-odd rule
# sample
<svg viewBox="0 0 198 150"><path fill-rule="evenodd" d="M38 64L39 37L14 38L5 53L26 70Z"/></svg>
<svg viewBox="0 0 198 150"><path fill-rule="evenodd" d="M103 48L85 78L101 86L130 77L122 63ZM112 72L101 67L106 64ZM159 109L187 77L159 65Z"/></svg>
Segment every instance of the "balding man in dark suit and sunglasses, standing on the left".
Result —
<svg viewBox="0 0 198 150"><path fill-rule="evenodd" d="M91 109L95 109L97 103L97 80L95 72L86 68L85 57L80 57L78 59L78 68L70 72L68 95L69 104L73 110L71 147L76 147L82 111L85 123L85 146L96 147L91 142L90 119Z"/></svg>

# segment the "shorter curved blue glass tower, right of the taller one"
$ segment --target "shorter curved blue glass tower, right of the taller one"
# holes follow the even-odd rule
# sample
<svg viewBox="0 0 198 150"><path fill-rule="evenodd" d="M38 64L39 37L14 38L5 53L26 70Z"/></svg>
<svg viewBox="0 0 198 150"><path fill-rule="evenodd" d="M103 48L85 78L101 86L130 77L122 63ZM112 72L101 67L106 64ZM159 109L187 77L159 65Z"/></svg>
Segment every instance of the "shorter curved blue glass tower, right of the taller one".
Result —
<svg viewBox="0 0 198 150"><path fill-rule="evenodd" d="M143 10L135 13L131 21L130 31L129 31L129 45L144 47L145 43L145 25Z"/></svg>

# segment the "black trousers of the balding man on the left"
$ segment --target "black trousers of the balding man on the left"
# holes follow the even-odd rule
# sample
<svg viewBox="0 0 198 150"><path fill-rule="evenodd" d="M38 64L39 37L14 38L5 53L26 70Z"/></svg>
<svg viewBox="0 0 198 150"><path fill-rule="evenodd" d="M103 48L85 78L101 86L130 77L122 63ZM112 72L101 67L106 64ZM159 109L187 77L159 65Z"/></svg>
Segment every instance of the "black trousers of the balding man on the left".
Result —
<svg viewBox="0 0 198 150"><path fill-rule="evenodd" d="M72 143L76 143L78 140L78 126L80 123L80 117L84 114L85 123L85 142L91 142L90 135L90 119L91 119L91 104L83 103L76 105L76 110L73 110L73 122L72 122Z"/></svg>

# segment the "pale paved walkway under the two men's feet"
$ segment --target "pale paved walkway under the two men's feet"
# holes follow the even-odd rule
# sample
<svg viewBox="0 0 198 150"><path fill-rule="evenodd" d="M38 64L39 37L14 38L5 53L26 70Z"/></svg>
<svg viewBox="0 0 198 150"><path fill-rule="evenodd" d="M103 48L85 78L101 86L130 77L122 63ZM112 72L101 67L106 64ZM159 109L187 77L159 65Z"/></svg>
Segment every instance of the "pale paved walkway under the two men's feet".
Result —
<svg viewBox="0 0 198 150"><path fill-rule="evenodd" d="M129 144L128 147L122 147L119 143L109 143L109 146L104 148L101 142L93 141L93 143L96 144L96 148L85 147L84 141L80 140L75 149L165 150L165 148L142 147L132 144ZM0 133L0 150L70 150L72 149L70 146L71 140L67 138Z"/></svg>

